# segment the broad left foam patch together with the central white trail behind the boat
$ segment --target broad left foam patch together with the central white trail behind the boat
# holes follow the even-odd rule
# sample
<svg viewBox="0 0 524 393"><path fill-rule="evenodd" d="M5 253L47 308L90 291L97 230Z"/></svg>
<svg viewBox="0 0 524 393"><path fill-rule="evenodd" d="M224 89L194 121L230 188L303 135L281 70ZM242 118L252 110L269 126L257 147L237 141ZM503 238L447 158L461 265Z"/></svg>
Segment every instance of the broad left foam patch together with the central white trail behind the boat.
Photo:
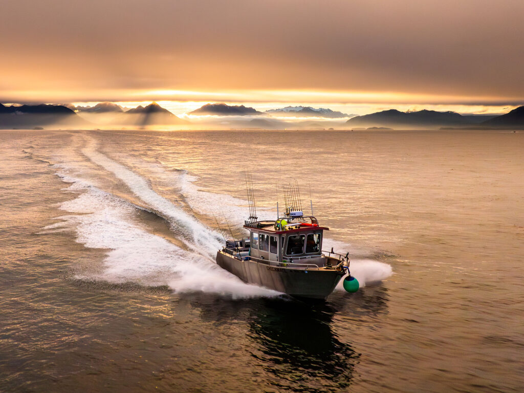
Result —
<svg viewBox="0 0 524 393"><path fill-rule="evenodd" d="M57 176L69 184L64 190L77 196L59 206L71 214L56 217L60 221L42 228L40 233L72 231L76 241L85 247L106 250L101 266L78 266L75 278L167 285L174 292L204 291L232 298L280 295L247 285L217 266L212 255L220 246L220 235L157 194L145 179L95 151L92 145L83 152L121 179L144 202L146 209L102 190L98 184L75 177L78 171L63 162L55 164ZM149 208L168 220L180 236L180 246L151 233L147 224L140 222L140 210Z"/></svg>

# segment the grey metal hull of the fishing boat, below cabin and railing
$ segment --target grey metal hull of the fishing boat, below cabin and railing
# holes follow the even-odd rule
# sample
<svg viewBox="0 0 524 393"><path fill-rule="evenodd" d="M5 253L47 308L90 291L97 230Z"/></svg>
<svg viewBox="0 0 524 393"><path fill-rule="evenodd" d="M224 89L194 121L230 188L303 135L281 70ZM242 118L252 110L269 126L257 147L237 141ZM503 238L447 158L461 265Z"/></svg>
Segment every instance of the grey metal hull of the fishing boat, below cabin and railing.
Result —
<svg viewBox="0 0 524 393"><path fill-rule="evenodd" d="M254 260L239 260L219 251L216 263L242 281L287 293L290 296L325 299L335 289L343 272L334 269L277 267ZM288 265L289 266L289 265Z"/></svg>

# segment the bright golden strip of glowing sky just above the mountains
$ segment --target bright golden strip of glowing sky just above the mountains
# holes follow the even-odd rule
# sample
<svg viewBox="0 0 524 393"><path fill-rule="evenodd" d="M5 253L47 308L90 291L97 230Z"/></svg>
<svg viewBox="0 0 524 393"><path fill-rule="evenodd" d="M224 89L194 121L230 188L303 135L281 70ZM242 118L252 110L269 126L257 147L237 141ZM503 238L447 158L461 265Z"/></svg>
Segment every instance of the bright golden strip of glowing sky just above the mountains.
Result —
<svg viewBox="0 0 524 393"><path fill-rule="evenodd" d="M432 95L405 92L333 91L333 90L97 90L86 91L3 91L0 102L7 103L72 103L75 106L93 106L110 101L123 107L148 105L158 102L177 116L209 103L245 105L264 112L285 106L324 107L352 115L365 115L391 108L399 111L422 109L462 114L497 114L508 112L524 99L517 97Z"/></svg>

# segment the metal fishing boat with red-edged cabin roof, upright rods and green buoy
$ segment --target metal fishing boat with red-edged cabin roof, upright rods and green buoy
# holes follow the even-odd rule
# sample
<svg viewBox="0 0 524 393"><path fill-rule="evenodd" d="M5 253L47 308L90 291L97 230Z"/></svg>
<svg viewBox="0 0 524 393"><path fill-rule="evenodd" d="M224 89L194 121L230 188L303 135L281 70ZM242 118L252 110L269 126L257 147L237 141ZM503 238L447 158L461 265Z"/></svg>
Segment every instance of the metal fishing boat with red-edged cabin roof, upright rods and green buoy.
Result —
<svg viewBox="0 0 524 393"><path fill-rule="evenodd" d="M250 215L244 228L249 236L237 240L231 232L233 238L216 254L220 267L247 283L292 297L325 299L344 276L344 289L358 290L358 281L350 275L349 253L322 251L329 228L313 216L312 203L311 215L303 214L298 184L285 186L285 214L274 221L258 220L250 176L246 185ZM277 216L278 211L277 202Z"/></svg>

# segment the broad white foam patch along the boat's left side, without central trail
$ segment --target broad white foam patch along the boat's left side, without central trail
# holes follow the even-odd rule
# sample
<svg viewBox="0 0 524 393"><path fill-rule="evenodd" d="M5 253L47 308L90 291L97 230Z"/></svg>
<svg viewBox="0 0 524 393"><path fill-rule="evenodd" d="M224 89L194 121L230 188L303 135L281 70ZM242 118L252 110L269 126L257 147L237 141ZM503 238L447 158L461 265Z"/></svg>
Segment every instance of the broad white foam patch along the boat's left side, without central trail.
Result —
<svg viewBox="0 0 524 393"><path fill-rule="evenodd" d="M60 209L73 214L57 217L61 222L44 227L42 233L74 231L77 242L86 247L108 249L100 269L83 269L77 278L167 285L175 292L205 291L233 298L280 294L247 285L217 266L212 258L149 233L134 220L137 206L74 178L63 169L57 174L64 182L71 183L66 190L83 190L83 193L62 202Z"/></svg>

